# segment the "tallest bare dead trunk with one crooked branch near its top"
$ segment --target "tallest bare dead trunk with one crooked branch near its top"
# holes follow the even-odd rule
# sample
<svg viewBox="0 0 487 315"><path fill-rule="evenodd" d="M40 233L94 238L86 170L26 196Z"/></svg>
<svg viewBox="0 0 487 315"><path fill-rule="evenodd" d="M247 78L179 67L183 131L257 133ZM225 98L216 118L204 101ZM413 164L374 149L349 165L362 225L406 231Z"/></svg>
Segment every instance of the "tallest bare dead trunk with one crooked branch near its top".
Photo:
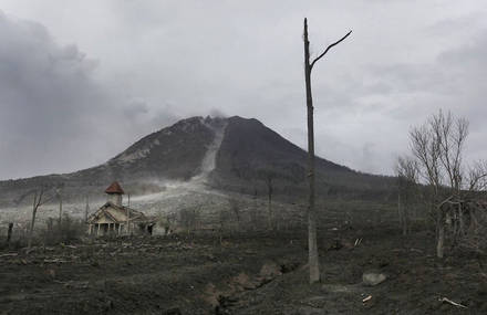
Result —
<svg viewBox="0 0 487 315"><path fill-rule="evenodd" d="M308 179L309 179L309 207L308 207L308 253L310 267L310 283L320 281L320 265L317 244L317 211L314 207L314 124L313 124L313 98L311 95L311 71L314 64L322 59L333 46L345 40L352 31L348 32L339 41L330 44L318 57L310 63L310 42L308 40L308 20L304 18L304 81L307 91L308 108Z"/></svg>

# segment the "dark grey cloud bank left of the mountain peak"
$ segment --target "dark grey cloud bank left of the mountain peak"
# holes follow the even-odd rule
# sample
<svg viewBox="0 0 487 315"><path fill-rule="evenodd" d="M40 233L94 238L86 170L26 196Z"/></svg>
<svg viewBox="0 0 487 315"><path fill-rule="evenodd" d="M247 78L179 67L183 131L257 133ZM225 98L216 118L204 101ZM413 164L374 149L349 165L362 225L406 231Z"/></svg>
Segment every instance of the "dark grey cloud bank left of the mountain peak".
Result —
<svg viewBox="0 0 487 315"><path fill-rule="evenodd" d="M0 178L93 166L162 123L144 99L111 95L99 62L42 24L0 12Z"/></svg>

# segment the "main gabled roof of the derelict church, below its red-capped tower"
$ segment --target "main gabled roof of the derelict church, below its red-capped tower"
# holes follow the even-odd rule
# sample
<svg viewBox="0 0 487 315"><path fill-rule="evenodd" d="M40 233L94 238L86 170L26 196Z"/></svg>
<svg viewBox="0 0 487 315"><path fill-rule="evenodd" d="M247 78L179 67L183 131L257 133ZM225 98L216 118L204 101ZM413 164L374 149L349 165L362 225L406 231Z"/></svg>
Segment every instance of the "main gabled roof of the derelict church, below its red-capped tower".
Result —
<svg viewBox="0 0 487 315"><path fill-rule="evenodd" d="M126 223L127 214L129 222L152 222L153 220L147 218L141 211L131 209L128 207L116 206L113 202L106 202L95 213L91 214L87 219L87 223L94 224L100 221L110 221L110 223Z"/></svg>

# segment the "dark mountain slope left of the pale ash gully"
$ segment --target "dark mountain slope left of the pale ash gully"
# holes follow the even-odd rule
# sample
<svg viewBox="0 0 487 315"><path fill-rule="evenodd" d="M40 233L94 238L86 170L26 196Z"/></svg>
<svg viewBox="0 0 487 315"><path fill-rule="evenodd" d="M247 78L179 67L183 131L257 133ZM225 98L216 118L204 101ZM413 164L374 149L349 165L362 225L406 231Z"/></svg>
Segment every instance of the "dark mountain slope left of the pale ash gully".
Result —
<svg viewBox="0 0 487 315"><path fill-rule="evenodd" d="M74 176L99 181L188 180L200 171L207 148L224 123L203 117L179 120L142 138L106 164Z"/></svg>

